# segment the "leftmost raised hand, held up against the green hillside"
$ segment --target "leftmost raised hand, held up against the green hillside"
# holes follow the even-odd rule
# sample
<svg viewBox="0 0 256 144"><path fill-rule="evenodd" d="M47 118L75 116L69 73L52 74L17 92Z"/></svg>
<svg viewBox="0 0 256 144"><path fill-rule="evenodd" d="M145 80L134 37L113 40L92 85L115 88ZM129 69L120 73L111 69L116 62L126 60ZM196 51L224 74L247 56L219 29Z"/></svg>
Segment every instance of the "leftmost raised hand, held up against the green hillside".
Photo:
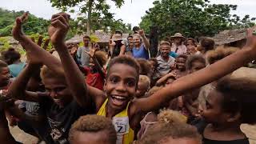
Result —
<svg viewBox="0 0 256 144"><path fill-rule="evenodd" d="M24 38L26 38L26 35L23 34L22 32L22 24L24 22L26 22L27 18L28 18L29 13L26 12L24 14L22 14L21 17L16 18L16 22L14 25L14 28L12 30L12 34L14 39L16 39L17 41L22 41Z"/></svg>

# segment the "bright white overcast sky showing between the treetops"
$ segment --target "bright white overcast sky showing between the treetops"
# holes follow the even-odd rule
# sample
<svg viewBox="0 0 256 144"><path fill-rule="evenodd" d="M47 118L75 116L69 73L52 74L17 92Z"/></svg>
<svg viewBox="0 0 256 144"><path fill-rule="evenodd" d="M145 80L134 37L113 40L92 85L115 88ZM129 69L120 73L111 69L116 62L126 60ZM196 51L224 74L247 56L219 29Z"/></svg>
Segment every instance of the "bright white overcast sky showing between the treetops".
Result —
<svg viewBox="0 0 256 144"><path fill-rule="evenodd" d="M125 4L118 9L114 2L107 0L111 6L111 12L114 18L121 18L125 23L131 23L137 26L141 22L141 17L146 14L146 10L153 7L154 0L125 0ZM235 4L238 10L234 14L244 16L250 14L250 17L256 17L255 0L210 0L212 3ZM50 19L52 14L58 13L56 8L51 7L49 0L0 0L0 7L6 10L24 10L40 18Z"/></svg>

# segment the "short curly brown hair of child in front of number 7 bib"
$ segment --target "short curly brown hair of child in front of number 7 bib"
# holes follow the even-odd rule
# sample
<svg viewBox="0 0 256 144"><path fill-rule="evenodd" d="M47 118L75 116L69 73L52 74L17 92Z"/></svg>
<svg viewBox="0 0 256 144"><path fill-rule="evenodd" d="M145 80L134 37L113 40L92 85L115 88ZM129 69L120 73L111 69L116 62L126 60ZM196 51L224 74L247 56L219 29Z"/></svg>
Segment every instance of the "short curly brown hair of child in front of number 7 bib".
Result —
<svg viewBox="0 0 256 144"><path fill-rule="evenodd" d="M104 141L109 144L115 144L117 141L117 133L114 129L112 121L109 118L100 115L86 115L78 118L71 126L69 133L69 141L73 142L76 132L105 132L107 137L103 137Z"/></svg>

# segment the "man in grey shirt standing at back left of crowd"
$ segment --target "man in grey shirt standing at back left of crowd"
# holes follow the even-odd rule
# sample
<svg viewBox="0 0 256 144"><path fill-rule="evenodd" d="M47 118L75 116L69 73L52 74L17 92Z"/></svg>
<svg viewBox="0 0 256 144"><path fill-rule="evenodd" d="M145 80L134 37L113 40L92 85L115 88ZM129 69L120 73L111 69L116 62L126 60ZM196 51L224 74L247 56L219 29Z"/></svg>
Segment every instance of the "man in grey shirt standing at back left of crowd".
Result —
<svg viewBox="0 0 256 144"><path fill-rule="evenodd" d="M78 48L77 56L78 56L78 62L82 66L89 66L90 63L90 56L85 53L90 51L90 37L89 36L84 36L82 38L83 41L83 46Z"/></svg>

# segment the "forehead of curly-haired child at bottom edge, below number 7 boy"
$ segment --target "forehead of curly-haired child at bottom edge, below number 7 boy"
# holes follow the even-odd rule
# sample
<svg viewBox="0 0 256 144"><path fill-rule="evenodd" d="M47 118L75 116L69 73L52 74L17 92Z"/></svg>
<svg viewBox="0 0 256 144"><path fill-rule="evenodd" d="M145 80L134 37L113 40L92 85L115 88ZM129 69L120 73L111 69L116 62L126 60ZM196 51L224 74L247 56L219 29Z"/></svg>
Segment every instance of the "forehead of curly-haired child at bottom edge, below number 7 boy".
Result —
<svg viewBox="0 0 256 144"><path fill-rule="evenodd" d="M75 132L74 137L70 144L110 144L104 132Z"/></svg>

